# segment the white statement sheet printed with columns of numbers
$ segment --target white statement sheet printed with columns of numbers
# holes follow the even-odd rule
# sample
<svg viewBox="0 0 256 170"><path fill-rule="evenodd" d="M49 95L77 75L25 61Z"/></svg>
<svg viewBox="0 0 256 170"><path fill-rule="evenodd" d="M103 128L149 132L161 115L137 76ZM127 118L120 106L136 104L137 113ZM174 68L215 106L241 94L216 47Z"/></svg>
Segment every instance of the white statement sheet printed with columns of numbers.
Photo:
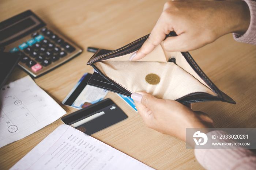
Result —
<svg viewBox="0 0 256 170"><path fill-rule="evenodd" d="M21 169L152 170L142 162L65 124L60 125L11 168Z"/></svg>

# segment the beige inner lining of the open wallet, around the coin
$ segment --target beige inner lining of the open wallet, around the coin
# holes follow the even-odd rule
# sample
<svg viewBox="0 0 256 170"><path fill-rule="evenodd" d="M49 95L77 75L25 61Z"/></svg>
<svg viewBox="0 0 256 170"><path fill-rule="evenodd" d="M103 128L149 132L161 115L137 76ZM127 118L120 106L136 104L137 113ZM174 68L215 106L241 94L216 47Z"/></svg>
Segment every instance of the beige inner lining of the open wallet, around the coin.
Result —
<svg viewBox="0 0 256 170"><path fill-rule="evenodd" d="M129 61L133 53L94 63L103 74L123 86L129 92L144 91L157 98L176 100L191 93L204 92L217 96L198 76L180 52L164 51L158 45L139 61ZM168 62L176 58L176 64ZM147 74L157 74L160 82L150 85Z"/></svg>

